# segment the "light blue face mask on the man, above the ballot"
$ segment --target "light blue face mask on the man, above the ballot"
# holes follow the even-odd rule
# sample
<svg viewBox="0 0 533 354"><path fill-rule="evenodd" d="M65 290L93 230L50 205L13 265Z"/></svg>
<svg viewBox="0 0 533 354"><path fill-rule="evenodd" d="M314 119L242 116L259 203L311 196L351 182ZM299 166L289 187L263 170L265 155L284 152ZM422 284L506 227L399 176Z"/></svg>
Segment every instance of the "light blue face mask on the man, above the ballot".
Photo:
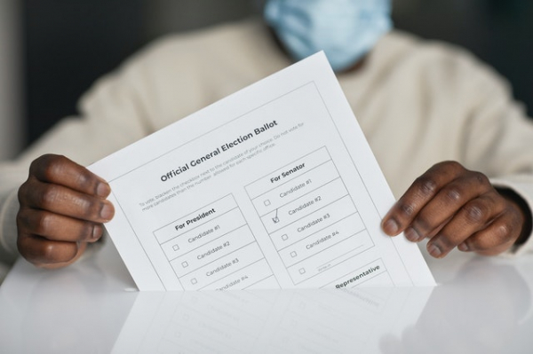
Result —
<svg viewBox="0 0 533 354"><path fill-rule="evenodd" d="M354 66L392 28L391 0L267 0L264 14L293 59L324 51L335 71Z"/></svg>

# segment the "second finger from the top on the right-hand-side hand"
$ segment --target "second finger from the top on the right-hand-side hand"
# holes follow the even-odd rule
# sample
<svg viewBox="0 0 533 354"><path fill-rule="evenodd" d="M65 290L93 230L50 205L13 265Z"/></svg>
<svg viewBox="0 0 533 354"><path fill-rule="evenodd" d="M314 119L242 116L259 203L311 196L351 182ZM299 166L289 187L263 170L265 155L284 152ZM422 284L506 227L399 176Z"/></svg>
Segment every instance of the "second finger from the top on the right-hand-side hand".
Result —
<svg viewBox="0 0 533 354"><path fill-rule="evenodd" d="M418 242L433 237L446 220L455 218L464 206L487 191L494 191L489 181L479 172L469 172L444 185L431 201L428 201L414 218L405 236L408 240ZM496 192L494 192L496 195ZM501 200L501 198L500 198ZM505 207L503 200L501 209ZM487 208L488 206L483 206ZM473 210L473 211L478 211Z"/></svg>

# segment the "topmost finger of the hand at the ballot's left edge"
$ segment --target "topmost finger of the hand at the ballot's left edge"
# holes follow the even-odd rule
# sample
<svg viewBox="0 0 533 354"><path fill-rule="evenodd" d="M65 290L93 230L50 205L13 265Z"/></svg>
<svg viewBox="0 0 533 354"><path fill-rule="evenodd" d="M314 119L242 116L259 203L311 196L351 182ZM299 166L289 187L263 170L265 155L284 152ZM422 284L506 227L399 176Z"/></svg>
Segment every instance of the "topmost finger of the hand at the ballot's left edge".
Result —
<svg viewBox="0 0 533 354"><path fill-rule="evenodd" d="M81 193L107 198L111 188L102 178L65 156L46 154L33 161L29 173L42 182L64 185Z"/></svg>

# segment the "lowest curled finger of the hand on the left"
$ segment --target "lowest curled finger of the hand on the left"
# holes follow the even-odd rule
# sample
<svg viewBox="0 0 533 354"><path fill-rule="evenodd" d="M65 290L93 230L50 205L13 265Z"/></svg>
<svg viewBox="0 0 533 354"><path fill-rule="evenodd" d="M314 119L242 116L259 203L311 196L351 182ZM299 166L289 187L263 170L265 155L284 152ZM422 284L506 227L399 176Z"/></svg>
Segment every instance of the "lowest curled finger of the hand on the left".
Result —
<svg viewBox="0 0 533 354"><path fill-rule="evenodd" d="M20 233L17 239L20 255L36 265L73 263L84 252L86 243L47 240L28 233Z"/></svg>

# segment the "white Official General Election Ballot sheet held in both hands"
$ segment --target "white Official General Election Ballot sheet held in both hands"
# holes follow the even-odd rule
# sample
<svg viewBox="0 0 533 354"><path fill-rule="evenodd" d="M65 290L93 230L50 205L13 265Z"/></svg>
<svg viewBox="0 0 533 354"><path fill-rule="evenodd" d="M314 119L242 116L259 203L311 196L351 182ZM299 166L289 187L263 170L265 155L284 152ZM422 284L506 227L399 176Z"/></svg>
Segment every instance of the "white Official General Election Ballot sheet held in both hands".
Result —
<svg viewBox="0 0 533 354"><path fill-rule="evenodd" d="M322 52L90 169L139 290L434 285Z"/></svg>

